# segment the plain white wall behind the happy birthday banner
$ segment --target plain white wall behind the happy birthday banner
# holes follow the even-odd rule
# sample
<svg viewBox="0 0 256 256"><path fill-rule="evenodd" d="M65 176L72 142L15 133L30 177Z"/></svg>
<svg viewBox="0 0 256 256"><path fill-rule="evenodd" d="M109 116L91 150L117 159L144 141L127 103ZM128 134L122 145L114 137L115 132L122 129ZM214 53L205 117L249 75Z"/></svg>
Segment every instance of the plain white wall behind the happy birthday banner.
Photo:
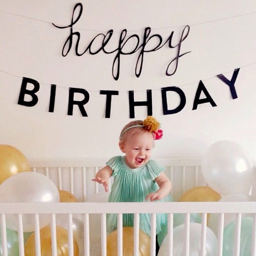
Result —
<svg viewBox="0 0 256 256"><path fill-rule="evenodd" d="M73 44L68 56L61 56L69 30L55 28L51 22L69 25L77 1L2 1L0 70L9 74L0 72L1 144L19 148L29 159L120 154L118 135L131 120L128 90L135 91L136 100L146 100L146 90L152 89L153 115L164 130L164 138L156 142L154 157L200 158L210 144L226 139L241 144L256 159L256 64L248 65L256 61L254 0L81 2L82 17L74 25L74 31L81 33L81 51L100 33L97 31L114 29L115 36L108 44L108 49L113 50L124 28L135 31L128 32L128 36L136 33L141 39L147 26L152 28L152 34L158 33L165 40L174 31L175 43L184 25L189 25L181 53L191 53L179 59L177 72L170 77L165 70L176 49L166 46L145 53L139 78L135 76L138 53L122 55L120 78L115 81L115 53L78 57ZM251 14L242 15L246 13ZM233 16L237 17L227 19ZM212 20L215 21L209 22ZM127 49L132 46L129 44ZM239 67L235 83L238 98L233 100L228 86L216 75L222 73L231 79ZM17 104L22 77L36 79L40 84L34 107ZM200 79L217 107L205 103L192 110ZM54 113L48 112L50 84L57 85ZM161 106L161 87L168 86L180 87L187 98L184 109L173 115L163 115ZM76 106L73 116L67 115L69 87L89 91L90 101L85 105L88 117L82 117ZM104 118L105 96L100 95L100 90L120 91L113 96L109 119ZM169 108L175 108L179 98L170 94L168 102ZM146 107L135 108L136 119L144 119L146 113Z"/></svg>

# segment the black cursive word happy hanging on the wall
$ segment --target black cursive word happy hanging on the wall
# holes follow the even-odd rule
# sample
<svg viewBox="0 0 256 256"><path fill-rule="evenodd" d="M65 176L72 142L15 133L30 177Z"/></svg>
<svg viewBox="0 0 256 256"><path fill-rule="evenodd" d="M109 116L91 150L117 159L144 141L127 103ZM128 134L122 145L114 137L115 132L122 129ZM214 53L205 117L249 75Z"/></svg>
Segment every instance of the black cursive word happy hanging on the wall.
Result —
<svg viewBox="0 0 256 256"><path fill-rule="evenodd" d="M75 13L75 10L77 8L79 8L78 9L79 13L77 15L77 18L74 18L74 13ZM142 67L143 67L143 56L144 56L144 53L145 52L151 52L151 51L157 51L157 50L161 49L167 42L169 42L168 43L169 48L173 49L173 48L177 47L177 55L176 55L176 57L169 62L168 66L166 68L166 75L167 76L172 76L177 71L179 58L181 56L183 56L183 55L185 55L185 54L190 52L190 51L187 51L187 52L185 52L183 54L180 54L181 44L187 38L187 36L189 34L189 26L187 25L187 26L184 27L184 29L182 31L182 35L181 35L181 37L179 39L179 43L177 45L174 45L174 46L172 46L172 39L173 39L174 31L171 32L169 38L167 38L167 40L162 44L163 39L162 39L161 35L153 34L153 35L151 35L149 37L149 35L151 33L151 28L147 27L144 30L143 40L142 40L142 43L141 43L140 46L139 46L139 44L140 44L139 36L137 34L133 34L133 35L129 36L125 40L125 37L126 37L126 34L127 34L127 30L123 29L121 31L121 33L120 33L118 47L116 49L114 49L113 51L106 51L105 46L108 44L108 42L110 41L111 36L113 35L113 29L110 29L106 34L99 33L98 35L96 35L91 40L91 42L87 46L87 48L83 52L79 53L78 52L78 46L79 46L79 41L80 41L80 33L79 32L73 32L73 25L76 24L77 21L79 20L79 18L81 17L82 11L83 11L82 3L77 3L74 6L74 9L73 9L71 23L68 26L57 26L54 23L52 23L56 28L60 28L60 29L70 28L70 34L67 37L67 40L65 41L64 46L62 48L62 56L65 57L69 53L69 51L70 51L70 49L72 47L73 36L74 35L77 36L77 43L75 45L75 54L77 56L82 56L83 54L85 54L87 52L87 50L89 50L89 53L92 54L92 55L99 53L101 50L105 54L112 54L112 53L114 53L116 51L117 54L115 55L115 58L113 60L113 66L112 66L112 75L113 75L115 80L118 80L118 78L119 78L119 73L120 73L120 56L121 55L134 54L136 51L140 50L140 53L138 55L138 59L137 59L137 62L136 62L136 68L135 68L135 75L136 75L136 77L140 77L141 72L142 72ZM187 32L184 33L184 31L186 29L187 29ZM91 51L91 46L92 46L95 38L97 38L98 36L103 36L102 45L100 46L100 48L97 51L92 52ZM151 38L154 38L154 37L158 38L158 44L156 46L154 46L153 49L146 50L145 49L146 44L148 44L148 42L151 40ZM131 38L136 38L136 45L134 46L133 50L131 50L130 52L123 52L123 47L128 42L128 40L130 40ZM169 72L169 67L172 64L172 62L174 62L174 61L175 61L175 68L174 68L174 71L170 73Z"/></svg>

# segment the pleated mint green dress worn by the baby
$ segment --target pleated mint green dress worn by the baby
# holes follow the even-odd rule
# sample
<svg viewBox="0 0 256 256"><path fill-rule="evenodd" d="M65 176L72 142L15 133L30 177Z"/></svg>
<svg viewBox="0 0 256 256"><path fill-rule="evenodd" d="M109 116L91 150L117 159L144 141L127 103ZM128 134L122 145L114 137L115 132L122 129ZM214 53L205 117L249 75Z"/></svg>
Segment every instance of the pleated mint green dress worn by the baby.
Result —
<svg viewBox="0 0 256 256"><path fill-rule="evenodd" d="M113 170L114 182L108 202L146 202L146 196L159 189L155 178L165 167L156 161L149 160L142 167L132 169L125 163L125 156L115 156L107 163ZM159 200L158 202L166 201ZM154 202L152 202L154 207ZM156 234L161 232L161 226L167 222L166 214L156 214ZM140 229L150 236L151 215L140 214ZM123 214L123 227L133 227L133 214ZM107 215L107 231L117 229L117 214Z"/></svg>

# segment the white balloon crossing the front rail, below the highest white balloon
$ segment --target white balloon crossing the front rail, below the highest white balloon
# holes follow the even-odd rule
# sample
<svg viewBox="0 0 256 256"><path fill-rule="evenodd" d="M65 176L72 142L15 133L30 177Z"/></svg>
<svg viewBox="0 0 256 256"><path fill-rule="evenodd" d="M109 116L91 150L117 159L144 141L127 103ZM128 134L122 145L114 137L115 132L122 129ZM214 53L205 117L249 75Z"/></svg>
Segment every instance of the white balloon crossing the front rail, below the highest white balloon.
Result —
<svg viewBox="0 0 256 256"><path fill-rule="evenodd" d="M219 202L253 202L254 200L255 198L250 195L230 194L222 197ZM218 213L210 213L207 220L207 226L215 233L216 236L218 236L219 216L220 215ZM253 217L253 214L243 213L242 217ZM224 228L233 220L236 220L236 213L225 213Z"/></svg>

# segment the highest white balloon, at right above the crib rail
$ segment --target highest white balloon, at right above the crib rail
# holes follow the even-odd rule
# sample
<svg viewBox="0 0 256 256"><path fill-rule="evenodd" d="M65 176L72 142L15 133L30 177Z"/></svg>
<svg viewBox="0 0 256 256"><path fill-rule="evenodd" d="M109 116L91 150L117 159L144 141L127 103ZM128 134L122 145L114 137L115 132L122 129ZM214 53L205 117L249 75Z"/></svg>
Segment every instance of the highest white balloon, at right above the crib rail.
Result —
<svg viewBox="0 0 256 256"><path fill-rule="evenodd" d="M201 165L205 181L221 195L249 194L256 175L253 159L237 143L213 143L204 154Z"/></svg>

